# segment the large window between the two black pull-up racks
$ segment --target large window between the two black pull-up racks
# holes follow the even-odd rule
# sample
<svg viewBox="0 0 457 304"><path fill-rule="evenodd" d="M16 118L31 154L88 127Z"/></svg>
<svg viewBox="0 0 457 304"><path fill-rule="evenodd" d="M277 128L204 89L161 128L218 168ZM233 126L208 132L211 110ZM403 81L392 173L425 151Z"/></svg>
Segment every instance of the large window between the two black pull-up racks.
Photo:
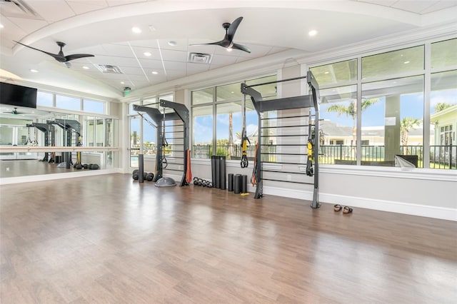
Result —
<svg viewBox="0 0 457 304"><path fill-rule="evenodd" d="M246 81L253 85L276 81L276 75ZM276 83L257 86L263 99L276 98ZM246 136L248 158L253 158L258 132L258 116L250 98L244 99L241 83L204 88L191 93L192 101L192 155L194 158L226 156L241 159L243 108L246 108ZM214 149L213 147L216 146Z"/></svg>

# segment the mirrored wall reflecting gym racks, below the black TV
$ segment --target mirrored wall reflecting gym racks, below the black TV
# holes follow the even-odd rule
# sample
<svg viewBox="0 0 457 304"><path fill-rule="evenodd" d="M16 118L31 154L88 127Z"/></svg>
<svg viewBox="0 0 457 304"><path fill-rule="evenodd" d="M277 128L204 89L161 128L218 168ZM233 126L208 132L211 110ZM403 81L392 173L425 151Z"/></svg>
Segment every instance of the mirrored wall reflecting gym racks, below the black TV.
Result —
<svg viewBox="0 0 457 304"><path fill-rule="evenodd" d="M98 169L119 168L119 152L105 148L119 146L117 119L42 112L39 116L0 117L1 148L49 147L47 152L0 151L0 178L84 171L91 164ZM53 151L54 146L94 147L94 151L60 152L59 148ZM96 147L104 149L96 151Z"/></svg>

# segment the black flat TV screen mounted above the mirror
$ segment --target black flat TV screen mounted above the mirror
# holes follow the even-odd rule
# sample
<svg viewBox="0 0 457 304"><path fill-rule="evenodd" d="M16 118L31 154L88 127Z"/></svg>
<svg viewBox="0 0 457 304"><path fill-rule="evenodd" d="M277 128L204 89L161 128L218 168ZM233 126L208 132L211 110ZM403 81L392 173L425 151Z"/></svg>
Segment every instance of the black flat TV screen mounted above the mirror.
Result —
<svg viewBox="0 0 457 304"><path fill-rule="evenodd" d="M36 108L36 88L0 82L0 103Z"/></svg>

